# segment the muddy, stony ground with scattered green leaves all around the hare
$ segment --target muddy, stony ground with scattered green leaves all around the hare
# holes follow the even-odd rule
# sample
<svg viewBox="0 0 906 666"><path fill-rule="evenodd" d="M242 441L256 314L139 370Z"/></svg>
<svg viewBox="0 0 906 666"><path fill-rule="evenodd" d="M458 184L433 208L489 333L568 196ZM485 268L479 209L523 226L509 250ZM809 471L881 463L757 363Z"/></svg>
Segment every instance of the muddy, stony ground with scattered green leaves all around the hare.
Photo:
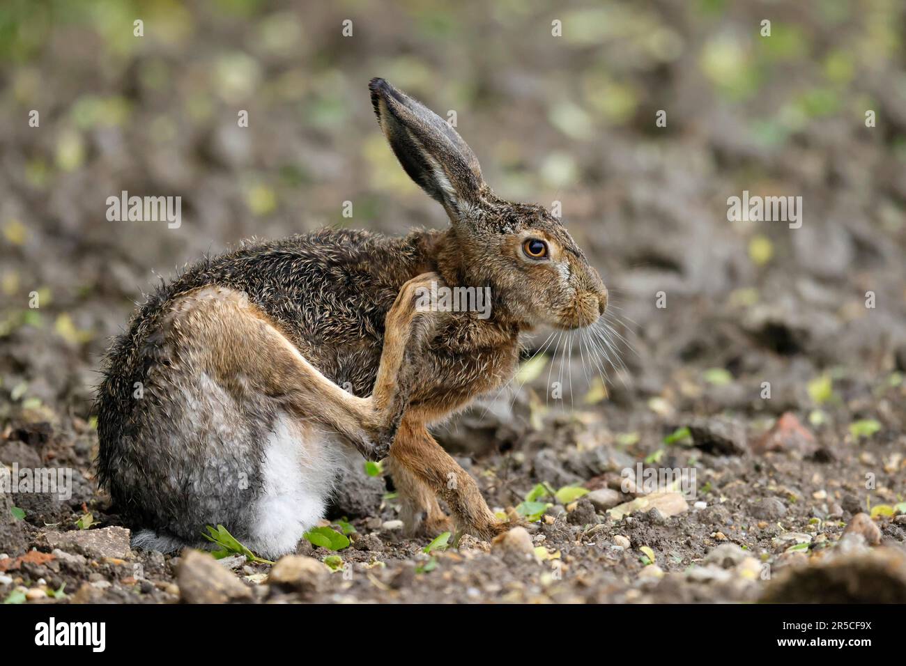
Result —
<svg viewBox="0 0 906 666"><path fill-rule="evenodd" d="M0 14L0 461L72 473L63 500L0 495L0 599L906 602L902 7L92 5ZM342 550L273 574L131 551L92 387L142 294L247 236L445 224L375 126L375 75L457 111L499 194L562 202L611 289L609 359L539 333L438 429L501 515L540 515L429 555L356 466ZM107 221L121 190L182 196L181 226ZM728 221L744 190L801 196L801 227ZM694 470L695 497L626 486L640 463Z"/></svg>

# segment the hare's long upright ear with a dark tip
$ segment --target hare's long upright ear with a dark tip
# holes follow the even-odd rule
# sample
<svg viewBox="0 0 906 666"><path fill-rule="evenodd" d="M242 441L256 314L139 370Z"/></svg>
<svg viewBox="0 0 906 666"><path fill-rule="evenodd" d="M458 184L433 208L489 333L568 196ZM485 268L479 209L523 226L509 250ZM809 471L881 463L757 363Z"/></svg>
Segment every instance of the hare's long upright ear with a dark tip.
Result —
<svg viewBox="0 0 906 666"><path fill-rule="evenodd" d="M477 206L484 185L475 153L448 122L383 79L371 79L371 104L400 164L454 222Z"/></svg>

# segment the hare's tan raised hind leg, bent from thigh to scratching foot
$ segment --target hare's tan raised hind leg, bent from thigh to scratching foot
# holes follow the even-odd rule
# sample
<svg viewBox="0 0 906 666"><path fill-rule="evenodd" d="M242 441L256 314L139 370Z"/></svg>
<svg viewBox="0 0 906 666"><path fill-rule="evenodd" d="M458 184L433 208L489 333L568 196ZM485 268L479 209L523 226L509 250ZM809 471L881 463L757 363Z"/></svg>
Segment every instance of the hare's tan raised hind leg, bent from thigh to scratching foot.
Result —
<svg viewBox="0 0 906 666"><path fill-rule="evenodd" d="M407 395L400 387L400 367L407 353L429 333L419 317L419 286L437 275L424 274L400 289L386 319L386 331L374 391L352 395L308 362L275 323L246 294L206 286L180 296L165 321L168 341L180 361L207 372L237 394L256 391L304 420L333 428L369 459L387 455L400 425Z"/></svg>

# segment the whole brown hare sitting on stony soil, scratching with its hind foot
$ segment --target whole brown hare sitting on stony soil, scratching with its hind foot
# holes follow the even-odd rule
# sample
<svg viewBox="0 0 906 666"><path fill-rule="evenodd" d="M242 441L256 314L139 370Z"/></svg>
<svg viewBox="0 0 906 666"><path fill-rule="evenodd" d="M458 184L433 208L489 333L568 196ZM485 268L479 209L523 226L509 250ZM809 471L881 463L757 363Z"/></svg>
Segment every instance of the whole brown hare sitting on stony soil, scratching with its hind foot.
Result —
<svg viewBox="0 0 906 666"><path fill-rule="evenodd" d="M248 243L140 306L104 365L97 462L137 547L197 545L221 524L262 555L291 552L343 460L388 447L410 529L446 526L438 497L463 531L504 529L428 428L511 376L520 333L593 323L607 292L559 220L496 197L447 122L381 79L370 89L450 227ZM489 287L490 316L417 311L432 283Z"/></svg>

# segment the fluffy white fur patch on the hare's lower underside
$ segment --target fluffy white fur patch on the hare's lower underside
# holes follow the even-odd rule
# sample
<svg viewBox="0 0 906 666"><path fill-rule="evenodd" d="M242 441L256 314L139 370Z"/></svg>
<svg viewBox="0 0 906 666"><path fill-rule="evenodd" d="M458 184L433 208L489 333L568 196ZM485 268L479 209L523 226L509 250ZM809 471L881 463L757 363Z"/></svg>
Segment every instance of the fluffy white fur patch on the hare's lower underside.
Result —
<svg viewBox="0 0 906 666"><path fill-rule="evenodd" d="M253 507L249 547L292 553L324 516L347 447L336 435L287 414L275 420L265 443L263 491Z"/></svg>

